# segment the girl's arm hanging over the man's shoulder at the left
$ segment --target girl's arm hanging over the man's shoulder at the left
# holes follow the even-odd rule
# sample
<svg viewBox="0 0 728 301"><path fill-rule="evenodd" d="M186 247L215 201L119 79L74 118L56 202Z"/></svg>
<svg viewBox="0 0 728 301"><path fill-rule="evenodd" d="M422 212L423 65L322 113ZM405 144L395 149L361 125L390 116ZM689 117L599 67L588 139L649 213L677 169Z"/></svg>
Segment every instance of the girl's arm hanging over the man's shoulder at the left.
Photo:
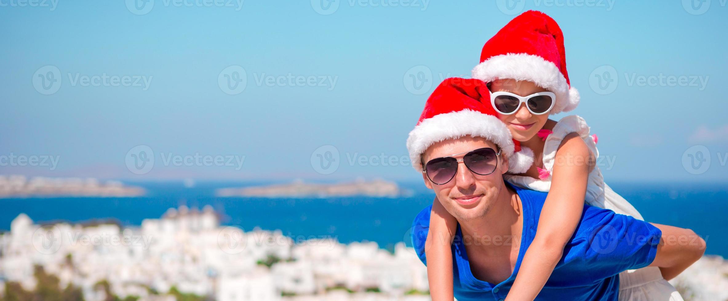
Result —
<svg viewBox="0 0 728 301"><path fill-rule="evenodd" d="M427 281L432 301L453 301L453 260L451 241L455 236L457 220L438 198L432 201L430 230L424 242L427 258Z"/></svg>

